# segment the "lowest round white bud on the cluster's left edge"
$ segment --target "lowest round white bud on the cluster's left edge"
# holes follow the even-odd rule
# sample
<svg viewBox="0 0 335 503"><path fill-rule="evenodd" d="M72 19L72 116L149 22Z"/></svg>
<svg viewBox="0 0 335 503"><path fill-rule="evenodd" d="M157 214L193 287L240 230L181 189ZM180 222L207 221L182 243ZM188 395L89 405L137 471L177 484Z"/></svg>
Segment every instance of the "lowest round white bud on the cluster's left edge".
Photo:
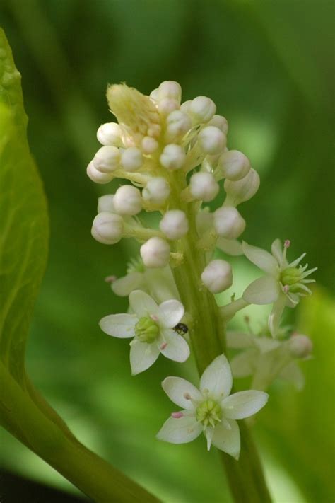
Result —
<svg viewBox="0 0 335 503"><path fill-rule="evenodd" d="M99 243L114 245L123 235L122 216L109 212L99 213L93 220L91 233Z"/></svg>

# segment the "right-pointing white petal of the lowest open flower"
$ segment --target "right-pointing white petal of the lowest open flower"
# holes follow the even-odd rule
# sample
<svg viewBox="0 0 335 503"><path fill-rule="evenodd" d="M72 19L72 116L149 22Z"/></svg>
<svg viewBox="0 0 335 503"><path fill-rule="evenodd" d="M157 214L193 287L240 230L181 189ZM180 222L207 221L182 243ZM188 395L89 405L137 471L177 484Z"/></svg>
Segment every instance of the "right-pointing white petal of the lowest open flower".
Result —
<svg viewBox="0 0 335 503"><path fill-rule="evenodd" d="M239 391L221 402L223 414L229 419L244 419L256 414L268 401L269 395L264 391Z"/></svg>

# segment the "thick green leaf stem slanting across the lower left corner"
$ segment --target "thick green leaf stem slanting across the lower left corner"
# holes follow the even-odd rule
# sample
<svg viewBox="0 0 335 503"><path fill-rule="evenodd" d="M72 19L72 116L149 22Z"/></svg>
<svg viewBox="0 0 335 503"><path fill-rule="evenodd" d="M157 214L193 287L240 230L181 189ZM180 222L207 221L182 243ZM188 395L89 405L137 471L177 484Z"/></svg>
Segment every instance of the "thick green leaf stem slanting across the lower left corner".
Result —
<svg viewBox="0 0 335 503"><path fill-rule="evenodd" d="M158 502L42 412L1 362L0 404L0 424L95 502Z"/></svg>

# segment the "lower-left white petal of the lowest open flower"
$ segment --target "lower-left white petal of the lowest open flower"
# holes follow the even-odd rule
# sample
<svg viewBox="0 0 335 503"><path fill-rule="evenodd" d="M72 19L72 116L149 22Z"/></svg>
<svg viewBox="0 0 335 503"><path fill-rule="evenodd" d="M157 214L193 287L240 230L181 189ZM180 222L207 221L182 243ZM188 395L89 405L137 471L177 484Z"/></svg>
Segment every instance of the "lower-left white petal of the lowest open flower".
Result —
<svg viewBox="0 0 335 503"><path fill-rule="evenodd" d="M187 444L201 434L201 423L197 422L194 415L183 417L169 417L163 424L156 438L171 442L171 444Z"/></svg>

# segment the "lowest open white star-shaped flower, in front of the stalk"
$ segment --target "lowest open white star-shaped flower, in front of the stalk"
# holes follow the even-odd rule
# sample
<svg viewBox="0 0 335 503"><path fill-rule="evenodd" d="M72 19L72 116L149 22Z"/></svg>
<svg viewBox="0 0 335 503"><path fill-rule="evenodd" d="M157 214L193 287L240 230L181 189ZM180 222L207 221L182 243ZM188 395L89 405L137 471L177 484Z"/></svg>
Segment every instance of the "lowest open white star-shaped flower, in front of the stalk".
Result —
<svg viewBox="0 0 335 503"><path fill-rule="evenodd" d="M208 450L213 444L236 459L240 456L236 420L254 415L269 398L267 393L254 390L229 396L233 377L224 354L204 371L199 390L180 377L167 377L162 386L170 400L183 410L172 412L157 434L159 440L186 444L204 432Z"/></svg>

